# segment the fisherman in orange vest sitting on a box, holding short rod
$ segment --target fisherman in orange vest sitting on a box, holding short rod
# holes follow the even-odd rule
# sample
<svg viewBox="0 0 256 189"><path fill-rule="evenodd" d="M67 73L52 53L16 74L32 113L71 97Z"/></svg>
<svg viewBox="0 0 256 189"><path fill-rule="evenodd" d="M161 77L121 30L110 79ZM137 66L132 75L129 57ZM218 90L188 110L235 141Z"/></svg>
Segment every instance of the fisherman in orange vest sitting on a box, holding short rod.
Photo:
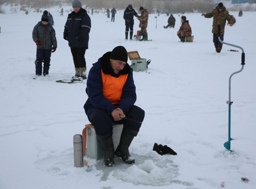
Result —
<svg viewBox="0 0 256 189"><path fill-rule="evenodd" d="M125 163L134 163L129 153L133 138L139 133L145 112L136 102L133 69L127 64L123 46L106 52L94 63L87 78L88 99L84 105L88 120L94 125L97 138L105 148L105 166L114 165L114 156ZM122 119L126 117L127 119ZM119 145L114 151L113 124L123 124Z"/></svg>

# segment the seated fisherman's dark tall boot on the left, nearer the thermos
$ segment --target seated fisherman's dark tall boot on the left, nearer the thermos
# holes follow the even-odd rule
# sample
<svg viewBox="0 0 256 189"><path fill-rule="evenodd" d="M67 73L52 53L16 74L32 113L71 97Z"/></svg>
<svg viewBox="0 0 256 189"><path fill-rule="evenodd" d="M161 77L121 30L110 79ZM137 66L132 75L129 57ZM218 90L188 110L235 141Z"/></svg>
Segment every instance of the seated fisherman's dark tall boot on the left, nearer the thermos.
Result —
<svg viewBox="0 0 256 189"><path fill-rule="evenodd" d="M114 144L113 144L112 135L113 135L113 132L108 133L107 135L104 135L104 136L97 135L97 138L101 141L102 146L105 148L104 164L105 166L108 166L108 167L111 167L115 164Z"/></svg>

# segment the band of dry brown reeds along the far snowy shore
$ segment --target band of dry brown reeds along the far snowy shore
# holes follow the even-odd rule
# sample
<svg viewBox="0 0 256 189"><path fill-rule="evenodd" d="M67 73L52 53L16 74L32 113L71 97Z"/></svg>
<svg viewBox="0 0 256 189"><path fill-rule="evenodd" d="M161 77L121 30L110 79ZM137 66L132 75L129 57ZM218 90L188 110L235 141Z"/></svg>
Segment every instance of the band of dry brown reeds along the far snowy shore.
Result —
<svg viewBox="0 0 256 189"><path fill-rule="evenodd" d="M50 8L62 5L70 5L73 0L0 0L0 5L8 3L11 5L21 5L29 8ZM210 12L216 6L213 0L80 0L85 9L106 9L116 8L124 10L128 4L132 4L133 8L138 11L142 6L148 10L150 14L155 13L158 9L160 13L190 13L193 11ZM254 3L256 0L251 0ZM72 7L71 7L72 9ZM239 5L238 5L239 9ZM237 11L237 10L236 10Z"/></svg>

